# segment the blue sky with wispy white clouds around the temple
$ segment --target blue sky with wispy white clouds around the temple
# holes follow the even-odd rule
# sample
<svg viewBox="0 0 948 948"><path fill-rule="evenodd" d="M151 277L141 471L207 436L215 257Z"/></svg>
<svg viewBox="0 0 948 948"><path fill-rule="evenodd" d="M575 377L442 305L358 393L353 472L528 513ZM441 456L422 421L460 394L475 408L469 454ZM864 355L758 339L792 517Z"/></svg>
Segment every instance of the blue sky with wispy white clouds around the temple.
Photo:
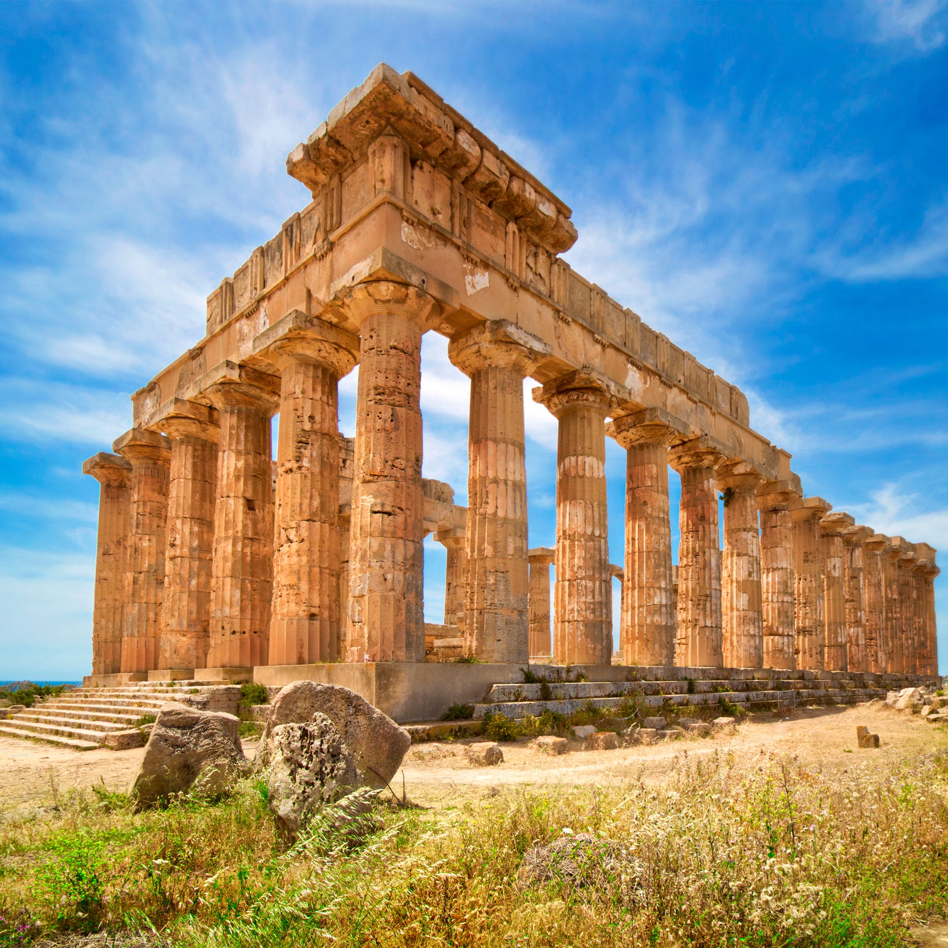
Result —
<svg viewBox="0 0 948 948"><path fill-rule="evenodd" d="M0 679L88 671L98 484L82 460L305 203L285 155L383 61L573 207L570 263L738 384L807 493L948 551L944 0L7 2ZM355 376L341 392L351 434ZM425 474L464 502L466 380L440 337L422 399ZM552 545L556 428L527 412L530 542ZM438 621L443 553L426 562Z"/></svg>

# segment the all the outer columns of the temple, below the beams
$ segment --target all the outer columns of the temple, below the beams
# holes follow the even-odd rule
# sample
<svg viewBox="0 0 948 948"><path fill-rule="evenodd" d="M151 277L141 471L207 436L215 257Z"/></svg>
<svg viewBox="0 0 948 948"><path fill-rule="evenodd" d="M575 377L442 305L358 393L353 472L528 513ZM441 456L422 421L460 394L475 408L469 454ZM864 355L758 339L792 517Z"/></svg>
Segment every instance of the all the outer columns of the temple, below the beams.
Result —
<svg viewBox="0 0 948 948"><path fill-rule="evenodd" d="M291 314L255 340L274 374L224 363L201 404L175 400L164 433L133 429L86 463L101 483L97 673L424 660L421 339L440 310L391 281L358 284L346 305L357 336ZM556 547L528 551L523 379L549 348L497 320L453 337L448 355L470 378L470 422L465 523L438 534L446 623L482 661L541 654L552 563L553 660L611 663L608 384L579 371L534 392L558 421ZM356 361L345 543L337 386ZM624 662L932 666L934 567L913 565L908 544L876 552L871 531L764 483L661 410L615 417L609 432L627 450ZM669 465L682 479L677 605Z"/></svg>

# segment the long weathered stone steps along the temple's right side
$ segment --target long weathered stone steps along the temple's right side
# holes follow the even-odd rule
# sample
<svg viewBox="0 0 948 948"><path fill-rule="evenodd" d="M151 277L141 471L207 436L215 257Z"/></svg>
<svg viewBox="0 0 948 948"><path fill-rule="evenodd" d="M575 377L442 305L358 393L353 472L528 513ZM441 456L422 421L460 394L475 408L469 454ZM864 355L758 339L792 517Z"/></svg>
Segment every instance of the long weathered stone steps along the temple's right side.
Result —
<svg viewBox="0 0 948 948"><path fill-rule="evenodd" d="M473 720L486 714L508 718L539 717L544 711L570 715L590 704L603 712L618 712L634 700L643 713L695 712L737 705L746 710L814 705L855 704L884 699L891 690L927 684L917 675L848 674L838 671L764 672L742 668L629 668L628 681L569 682L565 669L550 669L551 680L533 684L495 684L483 703L474 706ZM628 707L628 704L627 704Z"/></svg>

